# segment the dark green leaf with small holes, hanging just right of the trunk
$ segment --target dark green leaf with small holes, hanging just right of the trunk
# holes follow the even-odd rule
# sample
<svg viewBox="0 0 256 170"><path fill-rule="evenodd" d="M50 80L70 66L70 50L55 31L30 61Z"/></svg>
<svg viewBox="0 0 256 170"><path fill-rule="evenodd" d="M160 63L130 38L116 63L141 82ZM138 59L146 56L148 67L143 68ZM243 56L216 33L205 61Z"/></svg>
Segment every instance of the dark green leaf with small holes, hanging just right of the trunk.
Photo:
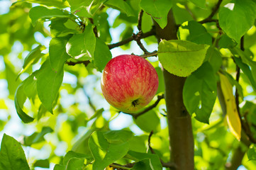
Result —
<svg viewBox="0 0 256 170"><path fill-rule="evenodd" d="M183 101L187 111L202 123L208 123L217 96L217 82L211 65L205 62L185 81Z"/></svg>

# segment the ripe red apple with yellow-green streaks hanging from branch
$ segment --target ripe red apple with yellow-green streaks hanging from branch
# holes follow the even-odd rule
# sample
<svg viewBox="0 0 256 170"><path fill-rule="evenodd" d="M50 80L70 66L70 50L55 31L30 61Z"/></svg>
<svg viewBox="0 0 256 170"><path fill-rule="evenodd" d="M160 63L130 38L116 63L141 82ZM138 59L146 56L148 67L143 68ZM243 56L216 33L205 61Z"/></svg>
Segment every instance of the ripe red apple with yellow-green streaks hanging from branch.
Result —
<svg viewBox="0 0 256 170"><path fill-rule="evenodd" d="M135 113L150 103L157 93L158 77L152 64L137 55L111 59L101 77L101 90L111 106Z"/></svg>

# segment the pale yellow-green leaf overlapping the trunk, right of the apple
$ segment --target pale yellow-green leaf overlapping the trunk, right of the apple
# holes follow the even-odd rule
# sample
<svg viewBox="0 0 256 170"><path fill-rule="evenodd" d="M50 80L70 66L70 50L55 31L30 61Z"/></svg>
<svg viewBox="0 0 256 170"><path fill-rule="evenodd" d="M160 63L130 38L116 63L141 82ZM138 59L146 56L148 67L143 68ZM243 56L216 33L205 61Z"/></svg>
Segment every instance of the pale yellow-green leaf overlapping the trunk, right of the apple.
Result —
<svg viewBox="0 0 256 170"><path fill-rule="evenodd" d="M169 73L187 77L203 64L208 47L184 40L162 40L157 53Z"/></svg>

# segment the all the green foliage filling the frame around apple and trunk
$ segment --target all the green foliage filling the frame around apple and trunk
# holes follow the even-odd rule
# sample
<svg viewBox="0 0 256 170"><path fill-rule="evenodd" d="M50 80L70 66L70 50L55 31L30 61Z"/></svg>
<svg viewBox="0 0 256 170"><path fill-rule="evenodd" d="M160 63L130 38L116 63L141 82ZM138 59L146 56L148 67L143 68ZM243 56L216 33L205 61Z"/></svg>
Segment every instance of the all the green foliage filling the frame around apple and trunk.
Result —
<svg viewBox="0 0 256 170"><path fill-rule="evenodd" d="M40 6L32 8L30 3L37 3ZM144 132L152 130L155 133L158 132L155 138L151 139L156 147L156 153L152 154L146 149L148 135L135 136L128 128L110 130L109 122L115 118L117 111L104 111L101 106L95 108L90 98L88 103L93 115L80 111L77 103L67 108L60 102L62 95L59 91L65 89L69 94L74 95L78 93L77 91L84 90L84 84L79 79L84 79L89 74L94 76L97 74L95 70L101 72L104 69L112 57L109 48L113 46L107 45L112 39L109 33L111 27L116 28L124 24L126 28L121 33L120 40L127 40L131 37L134 26L140 22L138 20L142 21L140 29L143 33L152 30L154 22L160 28L165 28L167 14L172 9L174 19L179 26L178 40L161 40L157 51L158 59L168 72L179 77L187 77L183 98L187 111L196 119L193 119L196 169L223 168L228 155L242 146L238 140L245 143L243 150L248 149L250 143L246 144L247 140L242 137L243 132L245 135L252 135L252 139L256 137L255 104L245 101L243 108L238 109L239 103L242 103L246 96L252 95L255 99L256 64L253 58L256 35L253 30L256 18L255 7L255 1L252 0L223 1L222 3L196 0L140 0L139 3L135 0L17 1L13 4L12 11L1 16L3 18L8 16L10 19L1 20L0 18L3 25L9 26L0 28L0 40L4 40L2 42L6 42L6 36L10 37L9 43L6 42L0 46L1 55L5 56L9 91L12 95L16 91L14 96L16 111L23 123L31 123L35 118L38 124L40 121L41 123L45 123L45 120L49 121L49 127L43 128L41 125L41 132L34 132L33 135L24 137L23 145L35 147L38 143L45 142L44 136L52 133L57 121L53 118L54 115L48 115L48 113L55 115L67 113L69 119L62 123L62 130L57 135L60 141L68 143L67 150L72 149L72 151L67 152L62 159L58 159L59 162L55 162L55 169L105 169L106 167L108 169L162 169L162 160L165 162L169 160L169 149L167 128L160 128L160 107L134 119L135 124ZM27 15L16 15L18 10L23 14L27 8L30 8ZM113 26L109 26L107 21L108 11L111 9L121 12ZM138 19L141 10L145 11L145 14ZM218 15L215 15L216 13ZM205 16L209 17L205 18ZM10 23L4 23L8 21ZM50 33L44 30L40 21L50 21ZM19 23L18 26L21 28L14 29L11 22ZM24 24L21 23L27 23L29 29L22 28ZM36 43L32 33L36 31L45 37L50 35L49 47L39 44L31 49ZM11 46L15 40L21 41L24 50L30 51L18 75L13 72L9 57L6 57L11 52ZM157 40L150 37L145 38L145 42L157 43ZM128 47L129 43L123 46L123 49ZM48 52L45 52L47 50ZM157 94L165 91L159 62L152 63L160 78L160 89ZM34 68L37 64L40 65L40 69ZM239 77L236 77L237 81L233 78L235 73L238 74L236 67L243 71L241 73L239 71L241 77L239 83ZM74 88L70 87L70 84L62 86L65 72L77 77L78 81ZM22 77L26 73L29 76L23 81L16 77ZM13 77L18 81L14 81ZM95 79L99 81L99 77ZM239 98L233 96L233 86ZM253 90L248 92L247 86L252 87ZM95 87L90 90L97 91ZM217 94L222 113L218 109L219 106L213 107L218 105ZM85 95L88 96L87 91ZM32 105L31 109L24 107L28 101L27 98ZM108 120L102 116L107 112L111 113L111 118ZM205 128L201 123L209 123L212 113L216 113L213 116L216 116L217 121L213 121ZM223 119L224 116L226 120ZM242 120L242 123L241 118L245 120ZM52 122L54 125L50 125ZM234 137L227 131L225 122ZM249 129L242 130L245 125L250 125ZM81 137L78 129L82 126L89 127L89 130ZM75 135L81 138L72 145ZM17 150L19 150L18 154ZM249 159L255 159L255 150L255 145L252 145L247 152ZM6 157L7 154L9 157ZM8 135L4 135L1 142L0 157L2 158L0 167L3 169L10 167L29 169L21 145ZM246 164L249 169L256 166L253 162L244 161L243 164ZM47 168L49 160L38 160L33 166Z"/></svg>

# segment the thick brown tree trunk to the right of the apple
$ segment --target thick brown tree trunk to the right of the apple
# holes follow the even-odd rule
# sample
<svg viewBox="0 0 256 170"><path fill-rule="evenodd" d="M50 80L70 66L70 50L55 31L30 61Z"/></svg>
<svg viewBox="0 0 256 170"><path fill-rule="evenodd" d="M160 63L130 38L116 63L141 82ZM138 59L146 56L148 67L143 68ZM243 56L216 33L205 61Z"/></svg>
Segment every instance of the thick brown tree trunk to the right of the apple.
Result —
<svg viewBox="0 0 256 170"><path fill-rule="evenodd" d="M164 29L160 28L157 23L155 26L158 41L177 39L177 26L172 11L169 11L168 23ZM191 117L184 107L182 98L186 78L177 77L165 69L163 69L163 74L171 160L177 165L177 170L194 169L194 137Z"/></svg>

